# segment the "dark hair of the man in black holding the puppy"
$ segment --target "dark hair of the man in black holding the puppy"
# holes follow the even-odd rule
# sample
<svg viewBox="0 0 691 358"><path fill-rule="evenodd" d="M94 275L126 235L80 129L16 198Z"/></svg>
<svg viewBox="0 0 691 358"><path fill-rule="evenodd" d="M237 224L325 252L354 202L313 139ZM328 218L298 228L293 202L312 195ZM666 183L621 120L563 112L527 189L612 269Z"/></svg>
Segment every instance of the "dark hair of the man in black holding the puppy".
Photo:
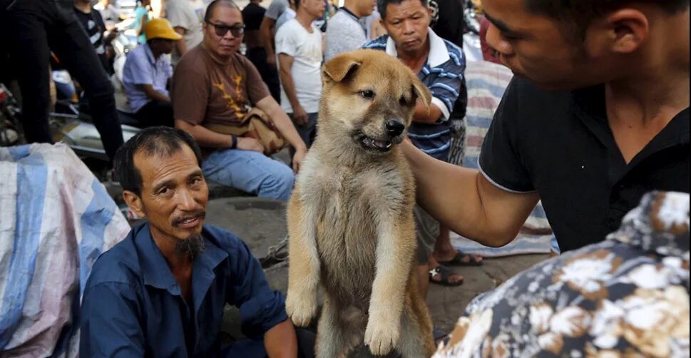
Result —
<svg viewBox="0 0 691 358"><path fill-rule="evenodd" d="M634 2L655 4L670 14L689 7L689 0L526 0L526 8L561 21L583 37L591 21Z"/></svg>

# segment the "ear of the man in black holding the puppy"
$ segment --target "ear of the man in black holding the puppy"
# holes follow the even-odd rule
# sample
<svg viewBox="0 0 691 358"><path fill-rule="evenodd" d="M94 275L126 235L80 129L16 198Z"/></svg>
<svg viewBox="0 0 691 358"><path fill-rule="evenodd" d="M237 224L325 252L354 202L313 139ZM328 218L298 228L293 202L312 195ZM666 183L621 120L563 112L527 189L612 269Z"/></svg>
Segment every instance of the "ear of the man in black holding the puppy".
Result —
<svg viewBox="0 0 691 358"><path fill-rule="evenodd" d="M605 19L610 51L633 53L650 36L648 16L638 9L620 9Z"/></svg>

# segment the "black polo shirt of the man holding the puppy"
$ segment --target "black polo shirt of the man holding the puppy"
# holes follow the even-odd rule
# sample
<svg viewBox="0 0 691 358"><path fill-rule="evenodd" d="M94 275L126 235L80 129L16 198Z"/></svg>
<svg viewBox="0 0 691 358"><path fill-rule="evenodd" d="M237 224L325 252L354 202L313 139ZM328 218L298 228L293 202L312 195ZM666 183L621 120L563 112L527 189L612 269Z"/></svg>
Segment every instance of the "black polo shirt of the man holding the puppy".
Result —
<svg viewBox="0 0 691 358"><path fill-rule="evenodd" d="M689 193L689 109L625 163L607 121L604 86L548 92L514 78L479 165L499 188L537 190L559 247L574 250L604 240L651 190Z"/></svg>

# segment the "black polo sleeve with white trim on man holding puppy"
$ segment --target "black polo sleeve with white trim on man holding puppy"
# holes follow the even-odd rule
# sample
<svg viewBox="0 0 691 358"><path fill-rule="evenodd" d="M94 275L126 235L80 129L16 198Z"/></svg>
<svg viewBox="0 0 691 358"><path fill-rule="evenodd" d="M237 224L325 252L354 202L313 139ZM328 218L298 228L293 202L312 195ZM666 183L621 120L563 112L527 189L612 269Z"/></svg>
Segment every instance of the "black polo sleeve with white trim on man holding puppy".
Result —
<svg viewBox="0 0 691 358"><path fill-rule="evenodd" d="M494 113L492 124L485 135L478 164L491 183L513 193L535 190L533 181L518 150L518 138L524 127L519 126L521 112L518 106L521 89L519 80L513 78Z"/></svg>

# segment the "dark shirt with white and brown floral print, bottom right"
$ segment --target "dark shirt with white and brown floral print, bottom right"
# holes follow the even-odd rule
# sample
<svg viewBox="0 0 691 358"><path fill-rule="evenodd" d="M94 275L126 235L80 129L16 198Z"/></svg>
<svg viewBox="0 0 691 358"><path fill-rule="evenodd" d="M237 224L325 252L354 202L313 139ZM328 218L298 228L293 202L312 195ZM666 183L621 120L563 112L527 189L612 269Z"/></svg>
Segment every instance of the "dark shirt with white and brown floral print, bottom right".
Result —
<svg viewBox="0 0 691 358"><path fill-rule="evenodd" d="M689 357L689 194L476 297L434 357Z"/></svg>

